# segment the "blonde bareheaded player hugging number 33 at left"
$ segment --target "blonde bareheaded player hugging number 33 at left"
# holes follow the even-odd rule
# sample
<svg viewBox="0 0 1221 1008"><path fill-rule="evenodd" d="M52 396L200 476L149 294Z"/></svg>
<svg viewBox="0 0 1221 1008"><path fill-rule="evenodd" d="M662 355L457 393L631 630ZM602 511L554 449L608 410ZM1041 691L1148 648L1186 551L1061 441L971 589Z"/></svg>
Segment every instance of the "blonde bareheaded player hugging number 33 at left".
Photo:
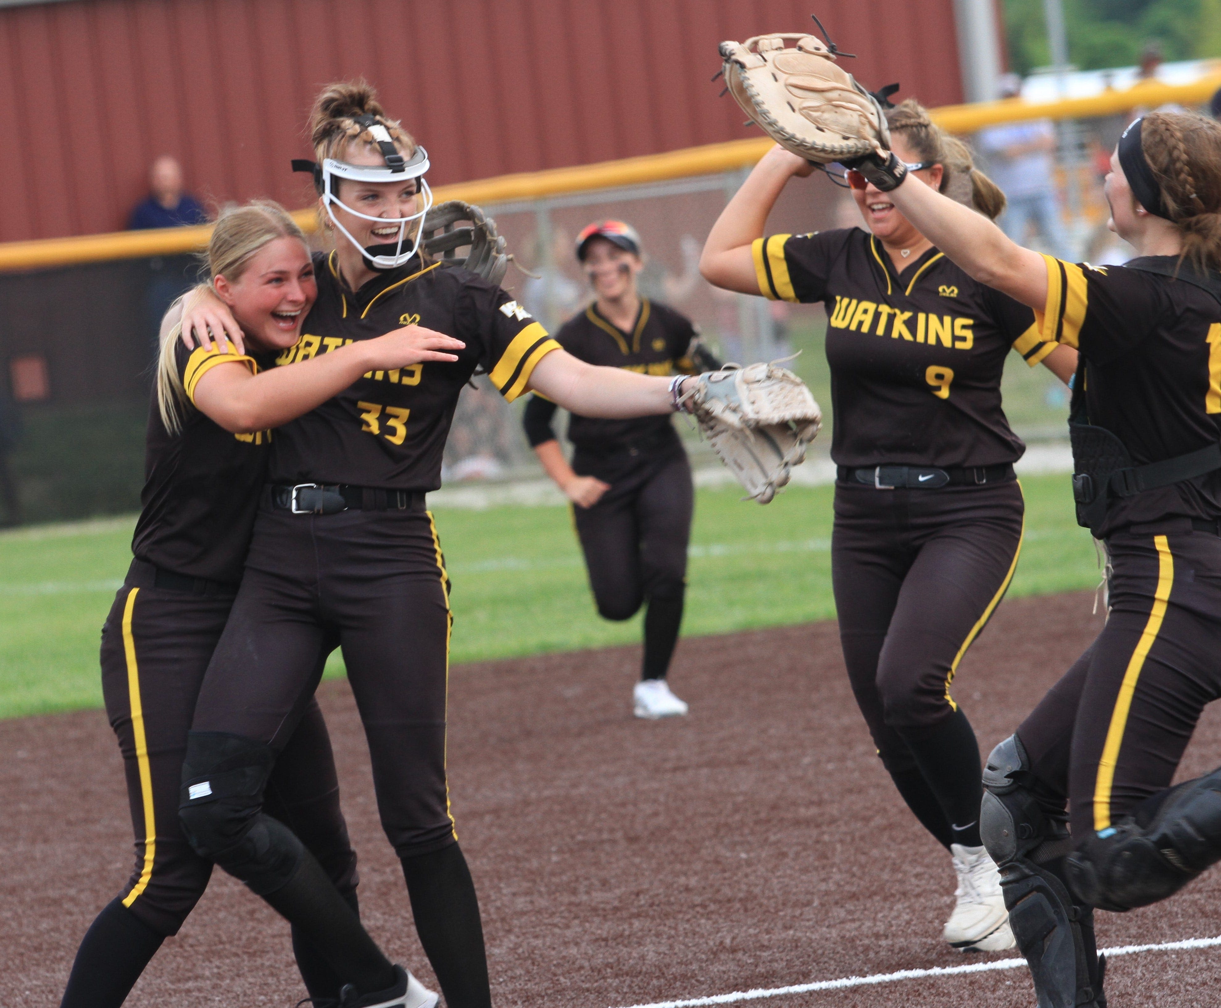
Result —
<svg viewBox="0 0 1221 1008"><path fill-rule="evenodd" d="M274 203L225 214L208 260L249 355L192 351L168 327L162 337L134 559L101 636L103 693L127 770L136 869L85 935L65 1008L121 1004L208 885L211 863L178 829L182 758L199 685L242 577L271 448L265 428L305 412L371 366L418 359L411 340L396 336L299 369L266 371L276 353L297 342L316 297L305 239ZM425 342L454 340L432 334ZM355 854L314 703L269 779L267 807L300 831L355 907ZM309 992L338 995L338 977L298 930L293 947Z"/></svg>

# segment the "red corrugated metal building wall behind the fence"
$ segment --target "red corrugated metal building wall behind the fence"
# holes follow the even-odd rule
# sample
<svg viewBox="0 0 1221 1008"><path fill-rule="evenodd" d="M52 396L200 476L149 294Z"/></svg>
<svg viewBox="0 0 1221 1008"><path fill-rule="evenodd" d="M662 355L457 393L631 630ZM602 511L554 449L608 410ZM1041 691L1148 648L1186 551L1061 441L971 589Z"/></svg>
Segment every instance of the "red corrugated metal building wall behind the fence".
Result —
<svg viewBox="0 0 1221 1008"><path fill-rule="evenodd" d="M962 98L952 0L821 0L869 87ZM212 201L304 205L319 85L364 74L436 183L750 135L717 43L808 0L73 0L0 10L0 240L116 231L151 160Z"/></svg>

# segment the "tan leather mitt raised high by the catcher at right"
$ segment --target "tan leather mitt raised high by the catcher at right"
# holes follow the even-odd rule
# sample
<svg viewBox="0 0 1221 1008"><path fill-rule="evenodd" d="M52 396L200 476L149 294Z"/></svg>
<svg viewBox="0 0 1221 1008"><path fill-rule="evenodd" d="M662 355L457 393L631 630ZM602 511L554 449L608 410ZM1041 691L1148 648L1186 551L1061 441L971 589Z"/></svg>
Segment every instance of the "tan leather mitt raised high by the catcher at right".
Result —
<svg viewBox="0 0 1221 1008"><path fill-rule="evenodd" d="M794 45L788 45L796 40ZM878 100L813 35L778 33L723 41L729 93L785 150L819 165L882 155L890 131Z"/></svg>

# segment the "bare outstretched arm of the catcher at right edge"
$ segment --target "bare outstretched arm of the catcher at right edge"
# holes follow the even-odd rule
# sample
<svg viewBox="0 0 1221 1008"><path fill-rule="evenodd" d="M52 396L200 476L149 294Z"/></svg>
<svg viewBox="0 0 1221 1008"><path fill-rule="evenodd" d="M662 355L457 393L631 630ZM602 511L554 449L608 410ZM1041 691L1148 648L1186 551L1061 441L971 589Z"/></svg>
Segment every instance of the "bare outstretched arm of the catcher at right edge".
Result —
<svg viewBox="0 0 1221 1008"><path fill-rule="evenodd" d="M868 178L869 171L864 175ZM921 234L974 279L1035 311L1044 310L1048 267L1042 255L1022 248L982 214L932 187L905 183L906 176L886 195Z"/></svg>

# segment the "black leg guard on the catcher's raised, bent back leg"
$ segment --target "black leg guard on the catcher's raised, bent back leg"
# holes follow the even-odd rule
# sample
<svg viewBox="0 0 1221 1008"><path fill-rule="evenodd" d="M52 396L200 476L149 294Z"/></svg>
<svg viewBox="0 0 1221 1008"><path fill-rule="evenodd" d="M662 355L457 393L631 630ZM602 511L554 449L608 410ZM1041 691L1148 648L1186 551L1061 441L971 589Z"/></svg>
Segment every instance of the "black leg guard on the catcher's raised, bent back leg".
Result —
<svg viewBox="0 0 1221 1008"><path fill-rule="evenodd" d="M1142 819L1138 809L1068 858L1078 897L1117 913L1147 907L1221 860L1221 769L1173 788Z"/></svg>

